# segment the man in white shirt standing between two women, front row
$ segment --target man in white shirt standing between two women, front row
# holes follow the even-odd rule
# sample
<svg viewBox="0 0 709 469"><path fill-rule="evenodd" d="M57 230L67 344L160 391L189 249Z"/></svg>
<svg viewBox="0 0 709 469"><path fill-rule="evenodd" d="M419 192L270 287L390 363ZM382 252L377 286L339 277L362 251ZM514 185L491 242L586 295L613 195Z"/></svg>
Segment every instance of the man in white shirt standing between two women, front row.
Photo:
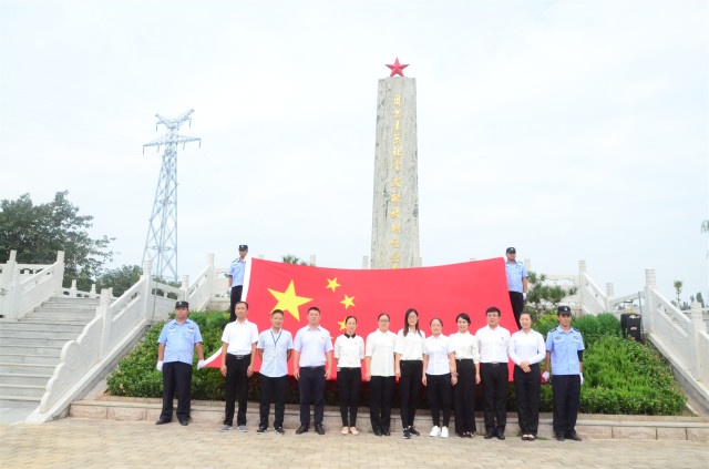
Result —
<svg viewBox="0 0 709 469"><path fill-rule="evenodd" d="M507 422L507 348L510 332L500 326L500 309L487 308L487 325L475 333L480 350L480 377L485 401L485 439L505 439ZM496 420L496 424L495 424Z"/></svg>

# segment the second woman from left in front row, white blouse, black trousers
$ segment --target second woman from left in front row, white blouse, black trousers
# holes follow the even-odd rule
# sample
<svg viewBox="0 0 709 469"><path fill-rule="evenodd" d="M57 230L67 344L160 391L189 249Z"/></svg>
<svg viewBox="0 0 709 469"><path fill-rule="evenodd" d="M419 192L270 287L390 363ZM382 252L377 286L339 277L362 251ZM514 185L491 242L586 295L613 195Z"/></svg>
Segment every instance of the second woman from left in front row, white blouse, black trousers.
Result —
<svg viewBox="0 0 709 469"><path fill-rule="evenodd" d="M377 319L379 328L367 336L364 379L369 381L371 401L369 418L372 431L381 437L391 435L391 400L394 395L394 343L397 335L389 330L389 315Z"/></svg>

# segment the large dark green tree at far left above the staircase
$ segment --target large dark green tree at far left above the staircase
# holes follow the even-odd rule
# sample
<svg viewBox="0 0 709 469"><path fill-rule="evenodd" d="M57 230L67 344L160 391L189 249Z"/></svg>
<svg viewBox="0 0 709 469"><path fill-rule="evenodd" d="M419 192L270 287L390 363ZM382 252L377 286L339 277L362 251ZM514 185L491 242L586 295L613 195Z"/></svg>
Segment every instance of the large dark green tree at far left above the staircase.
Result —
<svg viewBox="0 0 709 469"><path fill-rule="evenodd" d="M63 251L64 285L76 278L79 288L86 289L103 263L113 258L107 246L115 238L89 236L93 216L79 215L68 193L58 192L52 202L40 205L32 203L30 194L0 201L0 258L16 249L18 263L52 264L56 252Z"/></svg>

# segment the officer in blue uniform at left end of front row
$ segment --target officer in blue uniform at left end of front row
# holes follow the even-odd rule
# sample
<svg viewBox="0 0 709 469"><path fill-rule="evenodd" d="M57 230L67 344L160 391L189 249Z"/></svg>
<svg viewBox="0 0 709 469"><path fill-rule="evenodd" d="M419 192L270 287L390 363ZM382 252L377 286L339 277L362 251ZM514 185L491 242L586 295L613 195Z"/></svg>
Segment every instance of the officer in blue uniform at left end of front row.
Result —
<svg viewBox="0 0 709 469"><path fill-rule="evenodd" d="M189 422L189 390L192 387L192 360L197 350L197 369L205 367L199 326L187 319L187 302L175 304L175 318L163 326L157 338L157 370L163 373L163 411L156 425L169 424L173 419L173 398L177 390L177 420Z"/></svg>

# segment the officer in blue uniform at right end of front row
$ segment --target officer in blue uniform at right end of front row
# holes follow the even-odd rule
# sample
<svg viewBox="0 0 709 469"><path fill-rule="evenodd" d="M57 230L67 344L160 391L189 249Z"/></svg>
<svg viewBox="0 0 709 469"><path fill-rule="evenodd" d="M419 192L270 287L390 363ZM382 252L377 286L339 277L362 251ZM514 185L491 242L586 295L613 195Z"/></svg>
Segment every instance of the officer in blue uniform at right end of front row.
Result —
<svg viewBox="0 0 709 469"><path fill-rule="evenodd" d="M572 310L568 306L559 306L556 317L558 327L549 330L546 336L546 371L543 375L544 379L549 379L551 365L554 375L554 434L559 441L566 438L580 441L575 427L580 385L584 384L584 339L572 327Z"/></svg>

